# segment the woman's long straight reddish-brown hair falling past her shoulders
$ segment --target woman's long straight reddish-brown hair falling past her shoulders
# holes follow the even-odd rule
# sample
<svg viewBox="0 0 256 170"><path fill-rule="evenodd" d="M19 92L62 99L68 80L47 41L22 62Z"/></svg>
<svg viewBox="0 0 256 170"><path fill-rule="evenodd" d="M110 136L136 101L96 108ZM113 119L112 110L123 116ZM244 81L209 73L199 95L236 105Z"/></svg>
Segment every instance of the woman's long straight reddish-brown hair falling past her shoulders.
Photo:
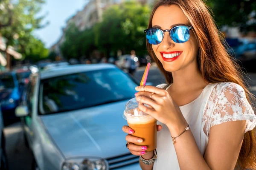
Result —
<svg viewBox="0 0 256 170"><path fill-rule="evenodd" d="M212 18L212 11L202 0L158 0L149 19L148 28L152 28L152 18L159 6L176 4L181 8L193 27L198 40L197 64L204 80L209 83L234 82L241 85L246 93L246 98L253 108L255 99L247 89L243 72L233 57L227 53L224 38L218 31ZM151 44L147 42L149 54L157 63L158 68L164 74L167 83L172 83L172 74L164 70L163 65L157 59ZM255 109L254 109L255 110ZM244 134L244 140L236 163L237 169L256 169L256 139L255 128Z"/></svg>

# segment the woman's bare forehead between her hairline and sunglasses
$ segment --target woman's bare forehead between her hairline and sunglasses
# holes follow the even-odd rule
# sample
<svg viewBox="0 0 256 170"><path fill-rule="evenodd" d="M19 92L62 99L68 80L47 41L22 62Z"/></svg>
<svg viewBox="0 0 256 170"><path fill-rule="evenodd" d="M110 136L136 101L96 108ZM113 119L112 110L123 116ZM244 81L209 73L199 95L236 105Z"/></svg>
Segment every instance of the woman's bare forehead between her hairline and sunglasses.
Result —
<svg viewBox="0 0 256 170"><path fill-rule="evenodd" d="M153 15L152 26L169 29L173 24L189 24L186 15L177 5L160 6Z"/></svg>

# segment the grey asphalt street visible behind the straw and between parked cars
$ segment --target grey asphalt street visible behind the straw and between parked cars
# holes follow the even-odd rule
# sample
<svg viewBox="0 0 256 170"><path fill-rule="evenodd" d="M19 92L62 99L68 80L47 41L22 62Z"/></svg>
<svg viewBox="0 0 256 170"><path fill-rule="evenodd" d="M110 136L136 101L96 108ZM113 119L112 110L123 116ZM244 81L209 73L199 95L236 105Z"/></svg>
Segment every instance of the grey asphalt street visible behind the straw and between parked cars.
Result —
<svg viewBox="0 0 256 170"><path fill-rule="evenodd" d="M140 68L134 77L140 81L143 76L145 68ZM156 68L152 66L148 73L147 82L152 82L154 86L165 83L163 74ZM246 78L251 86L253 94L256 95L256 74L248 74ZM20 123L15 123L7 126L4 129L4 134L6 136L6 151L9 161L10 170L31 170L32 164L32 153L25 146L23 139L23 132L20 128Z"/></svg>

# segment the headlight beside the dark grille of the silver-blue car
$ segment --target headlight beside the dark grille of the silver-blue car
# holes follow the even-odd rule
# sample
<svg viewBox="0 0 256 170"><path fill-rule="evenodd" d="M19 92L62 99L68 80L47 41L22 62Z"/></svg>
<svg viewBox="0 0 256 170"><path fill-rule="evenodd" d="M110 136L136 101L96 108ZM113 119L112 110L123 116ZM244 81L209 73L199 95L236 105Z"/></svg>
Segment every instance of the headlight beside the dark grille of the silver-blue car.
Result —
<svg viewBox="0 0 256 170"><path fill-rule="evenodd" d="M107 170L105 159L70 159L64 162L62 170Z"/></svg>

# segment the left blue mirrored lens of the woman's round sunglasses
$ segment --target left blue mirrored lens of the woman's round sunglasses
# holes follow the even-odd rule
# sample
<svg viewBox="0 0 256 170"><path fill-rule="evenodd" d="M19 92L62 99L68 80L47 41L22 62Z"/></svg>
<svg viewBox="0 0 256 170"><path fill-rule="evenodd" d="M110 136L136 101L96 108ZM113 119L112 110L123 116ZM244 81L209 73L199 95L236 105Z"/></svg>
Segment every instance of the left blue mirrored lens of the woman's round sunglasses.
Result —
<svg viewBox="0 0 256 170"><path fill-rule="evenodd" d="M146 32L146 38L152 45L160 44L163 40L163 32L157 28L150 28Z"/></svg>

